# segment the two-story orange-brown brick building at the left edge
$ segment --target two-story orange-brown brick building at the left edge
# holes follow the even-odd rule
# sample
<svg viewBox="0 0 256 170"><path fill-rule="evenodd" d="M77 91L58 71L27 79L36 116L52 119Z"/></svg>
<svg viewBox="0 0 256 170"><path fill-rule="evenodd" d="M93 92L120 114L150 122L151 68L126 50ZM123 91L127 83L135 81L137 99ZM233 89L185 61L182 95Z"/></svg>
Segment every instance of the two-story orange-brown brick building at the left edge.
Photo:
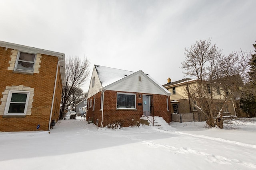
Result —
<svg viewBox="0 0 256 170"><path fill-rule="evenodd" d="M60 111L65 55L0 41L0 131L49 130Z"/></svg>

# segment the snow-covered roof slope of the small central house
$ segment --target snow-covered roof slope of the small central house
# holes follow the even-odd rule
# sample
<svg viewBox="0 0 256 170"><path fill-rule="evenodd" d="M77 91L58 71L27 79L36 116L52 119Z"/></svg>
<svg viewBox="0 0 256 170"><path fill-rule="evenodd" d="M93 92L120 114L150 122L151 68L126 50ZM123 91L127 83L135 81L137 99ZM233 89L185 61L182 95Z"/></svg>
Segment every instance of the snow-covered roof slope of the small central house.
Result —
<svg viewBox="0 0 256 170"><path fill-rule="evenodd" d="M134 72L95 65L102 87L106 87Z"/></svg>

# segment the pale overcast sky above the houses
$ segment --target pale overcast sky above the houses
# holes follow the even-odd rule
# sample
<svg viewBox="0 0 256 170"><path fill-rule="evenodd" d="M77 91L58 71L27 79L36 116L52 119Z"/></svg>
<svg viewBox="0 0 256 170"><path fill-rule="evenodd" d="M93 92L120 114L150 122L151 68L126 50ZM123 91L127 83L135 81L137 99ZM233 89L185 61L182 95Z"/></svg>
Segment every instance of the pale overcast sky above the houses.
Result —
<svg viewBox="0 0 256 170"><path fill-rule="evenodd" d="M256 41L256 0L0 2L0 41L87 56L91 68L143 70L160 84L184 78L184 48L196 40L211 38L225 55Z"/></svg>

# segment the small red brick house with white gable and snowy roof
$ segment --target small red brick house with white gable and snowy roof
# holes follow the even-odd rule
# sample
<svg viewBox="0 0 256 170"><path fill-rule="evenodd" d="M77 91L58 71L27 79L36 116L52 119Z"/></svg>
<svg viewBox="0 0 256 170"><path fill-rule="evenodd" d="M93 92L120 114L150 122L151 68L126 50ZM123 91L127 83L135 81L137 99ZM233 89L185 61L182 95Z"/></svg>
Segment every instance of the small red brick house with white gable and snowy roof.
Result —
<svg viewBox="0 0 256 170"><path fill-rule="evenodd" d="M142 115L152 115L161 116L169 123L170 95L141 70L131 72L94 65L86 120L103 127L122 121L128 127Z"/></svg>

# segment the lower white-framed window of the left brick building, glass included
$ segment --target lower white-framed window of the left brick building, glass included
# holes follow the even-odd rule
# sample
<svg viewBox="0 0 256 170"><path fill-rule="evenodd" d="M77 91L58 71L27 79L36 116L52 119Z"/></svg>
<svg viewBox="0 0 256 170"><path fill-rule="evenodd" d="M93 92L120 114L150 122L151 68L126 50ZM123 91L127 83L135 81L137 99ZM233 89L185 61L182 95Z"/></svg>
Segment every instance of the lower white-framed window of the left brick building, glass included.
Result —
<svg viewBox="0 0 256 170"><path fill-rule="evenodd" d="M4 115L26 115L29 96L29 91L10 90L4 109Z"/></svg>

